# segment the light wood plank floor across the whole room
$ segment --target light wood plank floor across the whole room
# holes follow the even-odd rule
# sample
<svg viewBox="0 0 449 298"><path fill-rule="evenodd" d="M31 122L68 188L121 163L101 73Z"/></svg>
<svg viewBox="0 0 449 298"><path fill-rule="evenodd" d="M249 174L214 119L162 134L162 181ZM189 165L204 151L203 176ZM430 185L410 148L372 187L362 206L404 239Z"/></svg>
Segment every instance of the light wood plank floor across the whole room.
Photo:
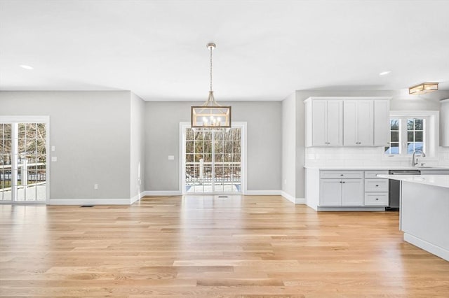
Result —
<svg viewBox="0 0 449 298"><path fill-rule="evenodd" d="M398 213L281 197L0 206L1 297L449 297L449 262Z"/></svg>

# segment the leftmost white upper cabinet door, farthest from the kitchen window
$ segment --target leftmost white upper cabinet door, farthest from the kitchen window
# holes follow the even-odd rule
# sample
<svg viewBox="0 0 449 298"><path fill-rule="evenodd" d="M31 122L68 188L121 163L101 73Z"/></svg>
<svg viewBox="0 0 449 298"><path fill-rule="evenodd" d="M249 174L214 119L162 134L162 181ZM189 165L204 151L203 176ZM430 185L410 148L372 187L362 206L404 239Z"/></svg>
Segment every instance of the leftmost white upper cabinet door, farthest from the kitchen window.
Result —
<svg viewBox="0 0 449 298"><path fill-rule="evenodd" d="M311 102L311 143L312 146L327 146L327 101Z"/></svg>

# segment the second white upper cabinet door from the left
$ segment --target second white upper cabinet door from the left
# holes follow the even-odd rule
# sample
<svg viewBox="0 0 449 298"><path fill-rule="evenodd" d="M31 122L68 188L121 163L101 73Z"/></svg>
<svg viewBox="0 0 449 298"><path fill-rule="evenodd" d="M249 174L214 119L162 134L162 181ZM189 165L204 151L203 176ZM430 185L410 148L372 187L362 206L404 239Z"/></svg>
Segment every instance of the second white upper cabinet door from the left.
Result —
<svg viewBox="0 0 449 298"><path fill-rule="evenodd" d="M327 115L327 139L328 146L343 145L343 101L329 100Z"/></svg>

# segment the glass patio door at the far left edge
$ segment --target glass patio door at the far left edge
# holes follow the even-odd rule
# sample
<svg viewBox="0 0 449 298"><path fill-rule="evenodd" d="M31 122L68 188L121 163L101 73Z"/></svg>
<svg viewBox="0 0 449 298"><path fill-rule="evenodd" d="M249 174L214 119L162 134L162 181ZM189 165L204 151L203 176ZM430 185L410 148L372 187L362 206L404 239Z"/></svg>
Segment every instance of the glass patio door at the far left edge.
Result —
<svg viewBox="0 0 449 298"><path fill-rule="evenodd" d="M0 118L0 202L46 202L47 127L47 120Z"/></svg>

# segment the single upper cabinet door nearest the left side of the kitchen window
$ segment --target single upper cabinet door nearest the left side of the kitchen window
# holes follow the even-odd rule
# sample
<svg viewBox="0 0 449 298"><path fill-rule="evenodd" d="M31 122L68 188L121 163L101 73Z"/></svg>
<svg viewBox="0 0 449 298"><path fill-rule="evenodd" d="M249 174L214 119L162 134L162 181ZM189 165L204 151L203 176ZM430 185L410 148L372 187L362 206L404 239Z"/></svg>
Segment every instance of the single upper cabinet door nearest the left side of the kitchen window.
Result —
<svg viewBox="0 0 449 298"><path fill-rule="evenodd" d="M374 146L389 146L390 103L388 100L374 101Z"/></svg>

